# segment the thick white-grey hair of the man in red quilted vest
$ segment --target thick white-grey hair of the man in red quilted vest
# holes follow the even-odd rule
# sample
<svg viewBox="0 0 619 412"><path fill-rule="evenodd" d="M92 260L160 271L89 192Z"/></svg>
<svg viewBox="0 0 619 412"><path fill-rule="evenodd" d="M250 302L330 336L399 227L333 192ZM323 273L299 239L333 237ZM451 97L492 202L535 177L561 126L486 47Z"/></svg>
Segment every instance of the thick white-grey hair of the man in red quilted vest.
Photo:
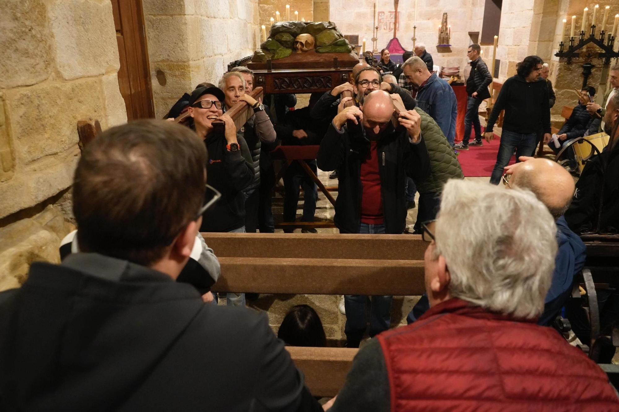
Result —
<svg viewBox="0 0 619 412"><path fill-rule="evenodd" d="M555 236L555 220L531 192L451 179L437 216L435 259L446 261L454 298L533 318L552 280Z"/></svg>

